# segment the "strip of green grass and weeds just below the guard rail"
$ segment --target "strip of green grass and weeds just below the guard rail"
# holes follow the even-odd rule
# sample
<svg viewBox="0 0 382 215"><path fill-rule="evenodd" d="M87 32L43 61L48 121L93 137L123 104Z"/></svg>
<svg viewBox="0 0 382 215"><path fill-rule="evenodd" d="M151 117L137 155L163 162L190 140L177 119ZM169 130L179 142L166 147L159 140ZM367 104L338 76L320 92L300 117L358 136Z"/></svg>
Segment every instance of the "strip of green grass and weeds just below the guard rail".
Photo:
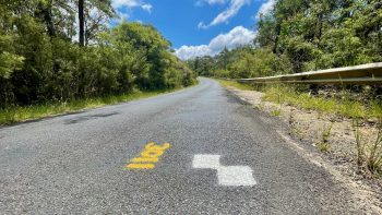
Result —
<svg viewBox="0 0 382 215"><path fill-rule="evenodd" d="M315 110L324 115L342 118L378 121L382 119L382 99L373 92L359 92L356 96L348 96L346 89L332 91L326 94L313 95L309 86L295 86L285 84L251 85L236 81L219 80L222 85L243 91L260 91L264 93L263 100L276 104L287 104L307 110Z"/></svg>

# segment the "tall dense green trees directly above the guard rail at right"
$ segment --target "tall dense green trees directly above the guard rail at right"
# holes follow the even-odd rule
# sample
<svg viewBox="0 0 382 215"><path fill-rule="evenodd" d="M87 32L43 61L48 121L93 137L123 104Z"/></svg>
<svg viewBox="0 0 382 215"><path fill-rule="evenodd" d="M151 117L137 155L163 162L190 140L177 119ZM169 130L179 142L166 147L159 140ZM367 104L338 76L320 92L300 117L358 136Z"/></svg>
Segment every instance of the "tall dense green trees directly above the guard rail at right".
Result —
<svg viewBox="0 0 382 215"><path fill-rule="evenodd" d="M287 55L294 72L381 61L379 1L277 1L259 22L261 48Z"/></svg>

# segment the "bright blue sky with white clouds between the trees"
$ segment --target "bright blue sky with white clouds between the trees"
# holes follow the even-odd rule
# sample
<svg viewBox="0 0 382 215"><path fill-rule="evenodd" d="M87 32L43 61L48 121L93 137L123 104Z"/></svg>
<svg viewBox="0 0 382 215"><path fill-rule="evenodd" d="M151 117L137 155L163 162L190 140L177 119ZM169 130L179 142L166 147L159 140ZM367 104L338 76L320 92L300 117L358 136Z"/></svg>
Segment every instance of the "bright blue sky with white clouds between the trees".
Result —
<svg viewBox="0 0 382 215"><path fill-rule="evenodd" d="M119 19L154 25L182 60L251 44L275 0L112 0Z"/></svg>

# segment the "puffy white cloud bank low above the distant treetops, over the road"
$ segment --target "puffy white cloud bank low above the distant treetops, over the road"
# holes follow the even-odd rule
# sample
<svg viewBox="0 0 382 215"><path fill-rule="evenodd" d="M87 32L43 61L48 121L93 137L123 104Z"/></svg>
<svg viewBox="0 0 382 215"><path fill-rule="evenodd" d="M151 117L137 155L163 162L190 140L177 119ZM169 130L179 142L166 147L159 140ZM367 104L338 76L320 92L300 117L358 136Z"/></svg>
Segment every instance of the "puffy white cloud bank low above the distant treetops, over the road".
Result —
<svg viewBox="0 0 382 215"><path fill-rule="evenodd" d="M224 48L234 49L253 41L255 32L243 26L237 26L227 34L220 34L213 38L208 45L182 46L176 50L178 58L188 60L202 56L215 56Z"/></svg>

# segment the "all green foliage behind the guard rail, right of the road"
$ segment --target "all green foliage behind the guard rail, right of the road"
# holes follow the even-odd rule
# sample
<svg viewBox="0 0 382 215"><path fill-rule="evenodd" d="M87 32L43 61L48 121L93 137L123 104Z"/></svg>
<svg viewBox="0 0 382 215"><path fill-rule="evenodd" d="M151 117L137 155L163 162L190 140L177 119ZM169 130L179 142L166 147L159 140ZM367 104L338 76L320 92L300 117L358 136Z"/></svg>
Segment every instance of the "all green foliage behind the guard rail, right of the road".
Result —
<svg viewBox="0 0 382 215"><path fill-rule="evenodd" d="M277 0L253 45L189 61L202 75L255 77L382 61L381 0Z"/></svg>

